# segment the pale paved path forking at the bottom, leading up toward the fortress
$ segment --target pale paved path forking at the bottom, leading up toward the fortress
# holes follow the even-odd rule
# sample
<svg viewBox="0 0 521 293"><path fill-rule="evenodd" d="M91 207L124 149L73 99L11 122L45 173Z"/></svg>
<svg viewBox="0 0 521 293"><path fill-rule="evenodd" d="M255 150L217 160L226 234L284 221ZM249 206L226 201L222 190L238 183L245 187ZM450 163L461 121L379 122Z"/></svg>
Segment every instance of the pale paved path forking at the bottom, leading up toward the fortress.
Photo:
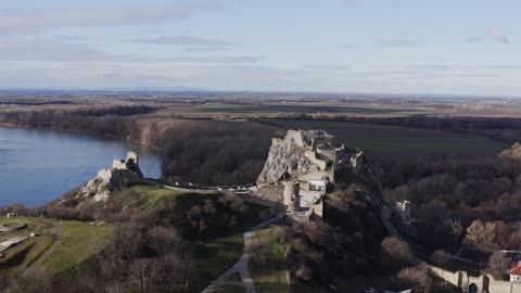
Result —
<svg viewBox="0 0 521 293"><path fill-rule="evenodd" d="M255 231L263 229L264 227L267 227L274 222L277 222L281 218L282 218L282 215L278 215L275 218L263 221L259 225L247 230L244 233L244 254L241 256L239 262L237 262L231 268L225 271L225 273L223 273L219 278L213 281L205 290L203 290L203 293L215 292L219 290L219 288L223 285L238 285L238 286L244 288L244 291L246 293L256 293L257 291L255 290L252 276L250 275L250 270L247 268L247 264L252 255L246 253L245 249L252 243L253 233L255 233ZM242 282L228 280L236 272L239 273L239 276L241 277Z"/></svg>

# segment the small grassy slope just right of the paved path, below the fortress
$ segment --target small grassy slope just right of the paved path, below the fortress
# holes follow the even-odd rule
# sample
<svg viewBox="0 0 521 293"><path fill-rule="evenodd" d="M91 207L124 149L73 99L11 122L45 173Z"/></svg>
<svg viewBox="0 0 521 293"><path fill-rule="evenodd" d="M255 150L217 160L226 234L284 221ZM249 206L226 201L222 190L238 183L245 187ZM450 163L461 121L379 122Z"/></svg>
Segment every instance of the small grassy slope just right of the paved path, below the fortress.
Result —
<svg viewBox="0 0 521 293"><path fill-rule="evenodd" d="M271 245L271 259L270 267L260 267L254 263L250 263L250 271L255 283L255 288L259 293L288 293L290 292L290 280L288 271L285 269L285 251L288 244L278 243L274 235L274 227L262 229L255 233L255 238L260 238Z"/></svg>

